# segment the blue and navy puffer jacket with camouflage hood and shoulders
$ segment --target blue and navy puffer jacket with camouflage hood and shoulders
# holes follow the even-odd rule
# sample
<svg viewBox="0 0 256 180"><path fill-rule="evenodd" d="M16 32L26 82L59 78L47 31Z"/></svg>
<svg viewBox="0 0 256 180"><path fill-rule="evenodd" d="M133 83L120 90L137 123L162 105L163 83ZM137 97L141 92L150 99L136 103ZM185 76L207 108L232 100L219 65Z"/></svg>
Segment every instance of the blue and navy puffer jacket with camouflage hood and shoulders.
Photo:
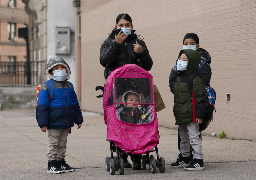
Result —
<svg viewBox="0 0 256 180"><path fill-rule="evenodd" d="M68 76L62 82L53 80L54 95L52 100L49 98L46 82L42 83L37 102L37 122L40 128L47 126L48 129L68 129L73 127L74 123L78 125L83 122L77 95L67 81L70 78L68 64L61 57L53 57L47 64L46 74L52 79L49 70L58 64L66 67Z"/></svg>

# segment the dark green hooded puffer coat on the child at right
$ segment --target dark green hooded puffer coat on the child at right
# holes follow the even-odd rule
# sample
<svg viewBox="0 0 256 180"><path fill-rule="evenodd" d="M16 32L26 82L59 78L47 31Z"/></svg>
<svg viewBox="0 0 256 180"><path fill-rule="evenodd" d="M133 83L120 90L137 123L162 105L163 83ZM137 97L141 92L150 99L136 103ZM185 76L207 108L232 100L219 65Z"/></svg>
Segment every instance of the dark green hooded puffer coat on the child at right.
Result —
<svg viewBox="0 0 256 180"><path fill-rule="evenodd" d="M200 54L191 49L181 50L179 57L185 53L188 57L188 67L186 71L179 71L177 82L174 85L174 106L173 113L176 125L187 124L193 121L192 95L188 89L189 74L197 72L197 67L201 61ZM200 77L193 80L193 91L196 99L196 117L204 119L207 112L207 91L204 81Z"/></svg>

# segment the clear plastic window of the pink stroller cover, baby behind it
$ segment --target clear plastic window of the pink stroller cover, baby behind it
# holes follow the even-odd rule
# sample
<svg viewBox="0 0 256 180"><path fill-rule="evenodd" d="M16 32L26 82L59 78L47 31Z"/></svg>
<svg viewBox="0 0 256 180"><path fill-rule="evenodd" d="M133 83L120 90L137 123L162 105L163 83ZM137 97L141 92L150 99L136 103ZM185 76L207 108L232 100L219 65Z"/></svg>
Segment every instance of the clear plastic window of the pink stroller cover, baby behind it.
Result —
<svg viewBox="0 0 256 180"><path fill-rule="evenodd" d="M115 78L116 116L132 124L154 119L152 78Z"/></svg>

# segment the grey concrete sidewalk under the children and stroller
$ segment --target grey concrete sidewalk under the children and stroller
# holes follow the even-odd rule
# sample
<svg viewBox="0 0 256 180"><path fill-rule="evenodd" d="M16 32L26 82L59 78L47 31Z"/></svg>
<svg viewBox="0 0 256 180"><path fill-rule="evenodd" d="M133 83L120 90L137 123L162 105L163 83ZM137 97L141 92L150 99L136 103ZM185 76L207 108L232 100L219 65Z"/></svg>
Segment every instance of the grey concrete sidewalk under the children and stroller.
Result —
<svg viewBox="0 0 256 180"><path fill-rule="evenodd" d="M47 134L38 127L35 110L0 111L0 179L137 179L144 175L146 179L193 179L196 172L201 176L197 179L255 179L255 142L203 136L205 170L184 171L169 165L178 156L177 130L164 127L159 127L161 138L157 147L159 157L165 159L165 173L160 174L157 169L157 174L151 174L147 165L146 170L125 169L124 175L117 171L111 176L105 170L105 157L110 156L110 150L103 116L88 112L83 112L83 116L82 127L72 128L67 143L66 161L76 171L56 175L46 173ZM156 157L155 152L152 154Z"/></svg>

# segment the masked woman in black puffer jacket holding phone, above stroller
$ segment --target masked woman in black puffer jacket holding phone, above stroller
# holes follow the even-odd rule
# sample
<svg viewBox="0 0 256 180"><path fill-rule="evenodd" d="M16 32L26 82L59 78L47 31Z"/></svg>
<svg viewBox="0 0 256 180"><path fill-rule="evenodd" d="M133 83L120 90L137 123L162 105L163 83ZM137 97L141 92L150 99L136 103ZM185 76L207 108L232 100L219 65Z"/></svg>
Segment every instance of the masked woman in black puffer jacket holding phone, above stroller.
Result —
<svg viewBox="0 0 256 180"><path fill-rule="evenodd" d="M118 28L121 28L124 33L120 31L116 35L115 29ZM142 67L149 71L153 61L145 42L134 34L131 17L128 14L119 14L116 17L115 29L112 30L108 39L103 41L100 48L100 64L106 67L107 63L111 61L108 74L122 65L137 64L137 59L140 59Z"/></svg>

